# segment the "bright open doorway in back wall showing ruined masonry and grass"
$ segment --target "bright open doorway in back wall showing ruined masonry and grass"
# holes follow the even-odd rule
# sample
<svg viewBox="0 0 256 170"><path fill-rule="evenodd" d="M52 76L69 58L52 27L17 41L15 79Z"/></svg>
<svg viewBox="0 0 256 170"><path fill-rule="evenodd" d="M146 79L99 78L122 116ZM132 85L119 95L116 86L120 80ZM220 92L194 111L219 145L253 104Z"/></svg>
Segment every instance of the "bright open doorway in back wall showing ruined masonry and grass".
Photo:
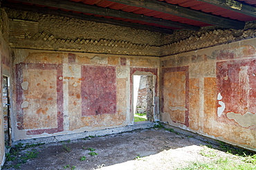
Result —
<svg viewBox="0 0 256 170"><path fill-rule="evenodd" d="M154 122L154 75L133 75L134 122Z"/></svg>

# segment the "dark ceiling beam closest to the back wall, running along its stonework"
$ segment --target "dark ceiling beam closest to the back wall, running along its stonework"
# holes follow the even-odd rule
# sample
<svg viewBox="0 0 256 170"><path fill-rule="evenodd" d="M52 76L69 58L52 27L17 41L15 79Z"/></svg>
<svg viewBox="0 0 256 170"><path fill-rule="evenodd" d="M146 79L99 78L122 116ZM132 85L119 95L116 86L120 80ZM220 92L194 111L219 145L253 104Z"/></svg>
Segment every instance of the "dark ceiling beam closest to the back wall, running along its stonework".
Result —
<svg viewBox="0 0 256 170"><path fill-rule="evenodd" d="M161 32L161 33L165 33L165 34L173 33L173 30L169 30L166 28L158 28L155 26L147 26L147 25L143 25L143 24L139 24L139 23L129 23L129 22L125 22L125 21L117 21L117 20L106 19L106 18L102 18L102 17L93 17L90 15L82 15L82 14L77 14L77 13L73 13L73 12L65 12L62 10L51 10L49 8L40 8L37 6L26 6L23 4L19 4L19 6L17 6L17 4L9 3L9 2L3 2L3 3L1 3L1 6L6 7L6 8L14 8L17 10L27 10L27 11L32 11L32 12L39 12L39 13L44 13L44 14L48 14L48 15L71 17L71 18L82 19L82 20L86 20L86 21L109 23L109 24L113 24L116 26L125 26L125 27L129 27L129 28L136 28L136 29L140 29L140 30L149 30L149 31Z"/></svg>

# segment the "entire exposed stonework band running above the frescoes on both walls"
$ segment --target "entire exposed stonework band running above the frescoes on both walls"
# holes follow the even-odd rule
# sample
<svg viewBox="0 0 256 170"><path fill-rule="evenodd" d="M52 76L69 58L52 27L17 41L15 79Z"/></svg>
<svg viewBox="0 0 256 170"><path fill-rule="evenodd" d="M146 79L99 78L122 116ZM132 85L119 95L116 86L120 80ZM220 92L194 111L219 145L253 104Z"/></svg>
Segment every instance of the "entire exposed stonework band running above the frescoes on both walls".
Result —
<svg viewBox="0 0 256 170"><path fill-rule="evenodd" d="M6 10L11 19L12 48L164 57L256 37L256 22L253 21L246 23L244 30L210 26L199 31L175 30L173 35L167 35L37 12Z"/></svg>

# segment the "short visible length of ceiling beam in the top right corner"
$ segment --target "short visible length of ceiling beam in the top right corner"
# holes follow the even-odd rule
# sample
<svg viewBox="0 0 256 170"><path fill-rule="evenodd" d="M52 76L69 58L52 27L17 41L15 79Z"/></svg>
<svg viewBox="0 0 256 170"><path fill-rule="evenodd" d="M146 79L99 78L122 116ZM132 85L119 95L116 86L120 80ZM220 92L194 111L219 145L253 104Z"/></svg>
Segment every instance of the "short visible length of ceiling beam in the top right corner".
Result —
<svg viewBox="0 0 256 170"><path fill-rule="evenodd" d="M248 15L250 17L256 17L256 8L254 6L250 6L246 3L241 3L239 1L234 1L234 0L197 0L197 1L210 3L214 6L219 6L227 10L239 12L241 14Z"/></svg>

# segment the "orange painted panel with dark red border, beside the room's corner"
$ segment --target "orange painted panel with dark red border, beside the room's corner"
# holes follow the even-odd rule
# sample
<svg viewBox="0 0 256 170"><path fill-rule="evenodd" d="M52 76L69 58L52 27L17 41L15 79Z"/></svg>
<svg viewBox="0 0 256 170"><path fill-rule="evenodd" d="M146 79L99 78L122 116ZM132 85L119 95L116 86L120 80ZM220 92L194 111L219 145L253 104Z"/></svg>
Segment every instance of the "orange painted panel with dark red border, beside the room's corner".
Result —
<svg viewBox="0 0 256 170"><path fill-rule="evenodd" d="M189 126L188 66L163 68L162 73L162 112L169 113L173 122Z"/></svg>

